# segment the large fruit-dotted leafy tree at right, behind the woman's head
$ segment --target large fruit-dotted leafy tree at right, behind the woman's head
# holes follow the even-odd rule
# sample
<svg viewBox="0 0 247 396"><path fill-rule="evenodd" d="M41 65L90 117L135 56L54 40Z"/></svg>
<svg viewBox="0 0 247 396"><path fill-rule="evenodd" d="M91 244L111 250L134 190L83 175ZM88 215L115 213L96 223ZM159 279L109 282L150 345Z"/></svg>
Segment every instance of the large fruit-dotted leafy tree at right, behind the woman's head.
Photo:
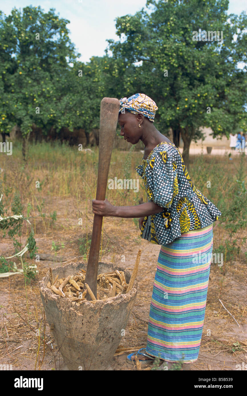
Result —
<svg viewBox="0 0 247 396"><path fill-rule="evenodd" d="M201 126L211 127L214 137L229 136L246 119L246 66L237 65L247 60L247 17L228 15L228 0L148 0L146 6L149 12L117 18L121 40L108 40L107 50L115 65L127 65L126 92L152 97L159 129L171 127L176 145L182 135L188 166L191 141L203 137ZM223 42L194 41L199 29L222 31Z"/></svg>

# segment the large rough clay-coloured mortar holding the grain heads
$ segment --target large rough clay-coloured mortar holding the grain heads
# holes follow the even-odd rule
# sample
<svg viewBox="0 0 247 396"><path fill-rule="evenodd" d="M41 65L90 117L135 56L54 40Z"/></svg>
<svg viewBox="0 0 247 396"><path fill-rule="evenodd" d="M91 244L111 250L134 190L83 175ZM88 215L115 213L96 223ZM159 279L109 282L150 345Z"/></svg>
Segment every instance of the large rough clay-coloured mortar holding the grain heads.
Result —
<svg viewBox="0 0 247 396"><path fill-rule="evenodd" d="M54 278L75 275L86 270L86 264L70 263L52 270ZM98 274L124 271L126 282L130 272L112 263L99 263ZM137 294L137 281L129 293L78 304L62 298L46 287L49 272L38 282L46 320L52 336L69 370L105 370L113 362Z"/></svg>

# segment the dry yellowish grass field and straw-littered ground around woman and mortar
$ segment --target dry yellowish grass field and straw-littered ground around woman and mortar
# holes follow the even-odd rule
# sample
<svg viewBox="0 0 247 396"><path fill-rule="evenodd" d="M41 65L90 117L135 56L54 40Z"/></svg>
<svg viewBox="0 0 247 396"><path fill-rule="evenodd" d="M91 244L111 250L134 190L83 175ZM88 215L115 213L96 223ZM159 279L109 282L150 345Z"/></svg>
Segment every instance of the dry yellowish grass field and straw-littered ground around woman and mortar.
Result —
<svg viewBox="0 0 247 396"><path fill-rule="evenodd" d="M121 179L127 176L139 177L134 168L141 164L142 156L142 153L134 152L130 158L128 153L113 150L109 177L117 176ZM11 202L16 188L21 194L24 215L27 213L27 204L31 204L29 220L35 229L34 238L38 246L38 254L56 253L63 255L66 261L79 259L80 240L83 240L87 245L84 250L87 256L93 221L91 199L96 195L98 148L90 154L79 152L77 147L65 146L60 149L59 145L54 147L49 147L47 144L34 145L30 148L27 168L21 169L20 164L21 151L16 145L11 158L2 157L3 200ZM239 158L229 161L228 157L204 156L202 162L201 156L195 156L192 158L190 176L195 186L220 208L221 200L227 199L230 183L236 177L238 167ZM247 175L247 161L245 161L245 175ZM36 188L36 181L40 182L40 188ZM206 187L207 181L211 181L211 188ZM119 206L136 205L141 198L145 202L146 193L141 179L139 188L138 193L133 190L107 190L107 199ZM40 216L37 207L46 215L45 217ZM54 211L57 212L57 219L52 222L49 217ZM10 209L9 213L11 214ZM22 235L18 238L21 246L24 246L28 232L29 228L23 223ZM139 235L140 230L133 219L104 218L100 252L102 261L111 260L116 265L124 265L133 270L138 249L142 248L141 270L139 268L137 274L136 304L126 327L126 334L116 351L117 359L132 350L146 346L148 313L159 247L150 246L151 244L141 240ZM2 232L0 238L1 254L4 256L13 254L13 243L10 238L8 236L2 238ZM214 247L217 248L222 244L224 238L226 234L222 226L216 224ZM63 242L64 247L54 252L52 242L56 245ZM18 259L15 261L18 265ZM25 261L29 264L34 263L27 255ZM63 369L63 359L54 345L50 328L45 322L37 286L38 280L46 274L49 267L54 267L56 264L56 255L54 261L40 261L35 264L38 266L39 274L36 280L32 280L31 284L27 285L27 302L22 275L0 280L0 363L9 362L13 364L13 369ZM233 263L226 264L224 273L217 265L211 266L200 354L192 369L227 370L229 367L234 369L239 362L246 363L246 334L238 330L234 319L219 302L220 299L241 329L244 329L247 323L245 274L246 263L241 257L236 257ZM138 367L140 369L140 366ZM117 360L117 368L114 369L138 369L138 367ZM141 369L145 367L141 366Z"/></svg>

